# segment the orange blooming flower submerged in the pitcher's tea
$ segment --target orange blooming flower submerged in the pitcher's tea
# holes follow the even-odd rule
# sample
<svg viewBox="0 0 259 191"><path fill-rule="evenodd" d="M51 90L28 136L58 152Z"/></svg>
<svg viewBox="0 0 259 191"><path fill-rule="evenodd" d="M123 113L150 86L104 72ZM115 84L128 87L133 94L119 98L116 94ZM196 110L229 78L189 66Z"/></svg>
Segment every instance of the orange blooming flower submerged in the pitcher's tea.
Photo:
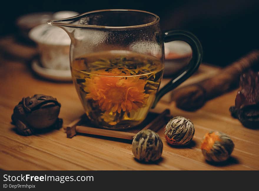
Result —
<svg viewBox="0 0 259 191"><path fill-rule="evenodd" d="M97 101L102 111L130 112L145 105L149 96L144 89L147 81L138 76L127 78L127 74L118 77L121 72L118 73L117 70L98 71L98 74L85 79L84 91L88 93L86 99Z"/></svg>

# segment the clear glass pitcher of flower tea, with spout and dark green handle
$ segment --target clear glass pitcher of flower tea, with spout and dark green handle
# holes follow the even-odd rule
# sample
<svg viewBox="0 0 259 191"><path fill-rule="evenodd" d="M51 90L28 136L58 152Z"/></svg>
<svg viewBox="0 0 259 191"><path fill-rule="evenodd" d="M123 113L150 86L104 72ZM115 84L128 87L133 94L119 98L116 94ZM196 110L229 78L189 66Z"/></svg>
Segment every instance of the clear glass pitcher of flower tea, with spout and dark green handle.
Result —
<svg viewBox="0 0 259 191"><path fill-rule="evenodd" d="M147 11L99 10L49 21L71 38L73 83L88 118L98 127L126 129L140 124L165 93L200 65L202 47L186 31L162 33L159 17ZM159 91L164 42L185 41L192 59Z"/></svg>

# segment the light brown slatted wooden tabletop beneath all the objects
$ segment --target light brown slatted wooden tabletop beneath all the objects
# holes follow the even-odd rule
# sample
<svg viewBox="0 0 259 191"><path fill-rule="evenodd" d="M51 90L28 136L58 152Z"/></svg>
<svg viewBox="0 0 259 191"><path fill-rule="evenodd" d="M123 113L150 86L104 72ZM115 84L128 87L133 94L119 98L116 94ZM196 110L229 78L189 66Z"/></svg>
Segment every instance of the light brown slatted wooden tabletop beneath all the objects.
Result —
<svg viewBox="0 0 259 191"><path fill-rule="evenodd" d="M172 115L182 115L195 125L193 142L188 147L174 148L160 135L164 150L162 159L153 164L137 162L131 143L112 138L77 135L66 138L61 128L44 134L24 137L17 135L10 124L14 106L24 96L42 93L61 102L60 117L64 125L82 115L83 108L72 83L54 83L34 76L20 61L0 58L0 168L4 170L258 170L259 130L243 127L230 116L237 90L210 100L196 112L177 109L175 103L160 102L153 110L165 108ZM230 135L235 149L228 162L220 165L207 163L200 150L202 137L210 130Z"/></svg>

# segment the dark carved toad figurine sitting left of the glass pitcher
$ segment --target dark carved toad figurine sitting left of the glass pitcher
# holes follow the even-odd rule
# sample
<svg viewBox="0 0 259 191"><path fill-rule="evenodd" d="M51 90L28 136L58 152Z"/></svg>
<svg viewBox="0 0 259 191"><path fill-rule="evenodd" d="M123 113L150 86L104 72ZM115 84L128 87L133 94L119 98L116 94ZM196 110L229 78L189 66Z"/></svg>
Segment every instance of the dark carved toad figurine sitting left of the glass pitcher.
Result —
<svg viewBox="0 0 259 191"><path fill-rule="evenodd" d="M58 118L60 103L52 96L35 94L22 98L14 107L12 123L19 134L28 136L34 129L61 128L63 120Z"/></svg>

